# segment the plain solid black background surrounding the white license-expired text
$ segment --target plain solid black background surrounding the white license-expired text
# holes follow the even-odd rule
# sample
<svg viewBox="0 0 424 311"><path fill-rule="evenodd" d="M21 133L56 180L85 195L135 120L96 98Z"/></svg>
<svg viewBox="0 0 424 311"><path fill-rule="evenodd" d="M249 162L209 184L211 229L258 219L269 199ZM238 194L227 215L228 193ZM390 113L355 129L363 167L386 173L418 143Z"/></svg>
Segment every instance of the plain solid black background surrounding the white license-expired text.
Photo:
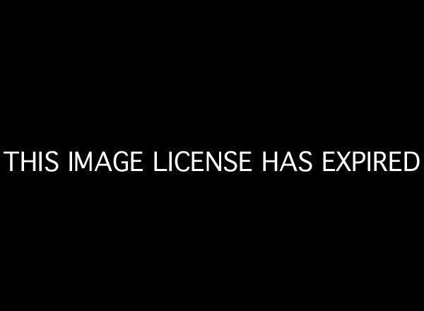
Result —
<svg viewBox="0 0 424 311"><path fill-rule="evenodd" d="M325 174L320 155L422 158L419 20L175 9L20 8L2 39L1 151L251 150L255 172L8 174L2 163L8 293L405 303L420 276L422 168ZM261 151L303 150L311 173L260 172Z"/></svg>

